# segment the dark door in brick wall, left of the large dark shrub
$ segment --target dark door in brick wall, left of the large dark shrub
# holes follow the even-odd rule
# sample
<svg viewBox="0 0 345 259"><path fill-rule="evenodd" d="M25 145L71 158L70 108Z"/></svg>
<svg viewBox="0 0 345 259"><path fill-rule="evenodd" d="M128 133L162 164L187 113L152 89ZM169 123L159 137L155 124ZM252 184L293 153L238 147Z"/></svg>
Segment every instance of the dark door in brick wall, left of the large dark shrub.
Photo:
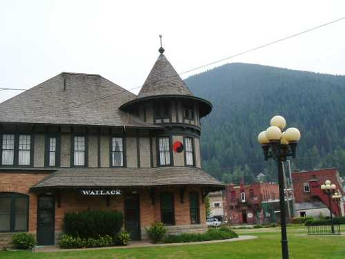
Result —
<svg viewBox="0 0 345 259"><path fill-rule="evenodd" d="M39 196L37 211L37 242L39 245L54 244L55 199L52 195Z"/></svg>

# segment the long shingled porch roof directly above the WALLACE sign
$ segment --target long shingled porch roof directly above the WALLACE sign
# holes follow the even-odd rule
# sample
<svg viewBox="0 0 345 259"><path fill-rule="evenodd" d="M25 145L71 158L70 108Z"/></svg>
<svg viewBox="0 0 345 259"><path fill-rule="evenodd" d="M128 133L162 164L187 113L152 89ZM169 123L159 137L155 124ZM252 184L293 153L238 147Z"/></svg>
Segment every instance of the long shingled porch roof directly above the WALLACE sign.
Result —
<svg viewBox="0 0 345 259"><path fill-rule="evenodd" d="M32 189L75 187L203 185L219 189L224 184L201 169L186 166L156 168L59 169Z"/></svg>

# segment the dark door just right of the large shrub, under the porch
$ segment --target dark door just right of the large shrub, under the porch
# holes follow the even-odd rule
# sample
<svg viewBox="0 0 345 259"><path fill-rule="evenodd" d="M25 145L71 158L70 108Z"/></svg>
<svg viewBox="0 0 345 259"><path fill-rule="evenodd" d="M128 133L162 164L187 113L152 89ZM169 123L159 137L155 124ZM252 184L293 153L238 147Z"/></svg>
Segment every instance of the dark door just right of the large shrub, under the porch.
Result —
<svg viewBox="0 0 345 259"><path fill-rule="evenodd" d="M125 198L125 229L131 240L140 240L139 195L128 195Z"/></svg>

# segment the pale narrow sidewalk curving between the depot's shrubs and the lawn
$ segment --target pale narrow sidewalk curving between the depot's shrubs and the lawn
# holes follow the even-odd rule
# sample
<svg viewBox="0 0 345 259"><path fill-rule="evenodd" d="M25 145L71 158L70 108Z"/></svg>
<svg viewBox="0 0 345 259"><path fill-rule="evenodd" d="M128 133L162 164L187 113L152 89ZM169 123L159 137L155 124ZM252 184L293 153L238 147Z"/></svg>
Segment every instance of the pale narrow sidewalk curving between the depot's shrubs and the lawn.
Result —
<svg viewBox="0 0 345 259"><path fill-rule="evenodd" d="M75 248L75 249L61 249L56 246L46 246L46 247L34 247L32 251L34 253L41 252L62 252L62 251L88 251L88 250L103 250L103 249L128 249L136 247L175 247L179 245L189 245L189 244L213 244L220 242L236 242L242 240L252 240L257 238L257 236L239 236L238 238L224 239L224 240L212 240L204 242L188 242L188 243L172 243L172 244L152 244L148 241L131 241L126 247L97 247L97 248Z"/></svg>

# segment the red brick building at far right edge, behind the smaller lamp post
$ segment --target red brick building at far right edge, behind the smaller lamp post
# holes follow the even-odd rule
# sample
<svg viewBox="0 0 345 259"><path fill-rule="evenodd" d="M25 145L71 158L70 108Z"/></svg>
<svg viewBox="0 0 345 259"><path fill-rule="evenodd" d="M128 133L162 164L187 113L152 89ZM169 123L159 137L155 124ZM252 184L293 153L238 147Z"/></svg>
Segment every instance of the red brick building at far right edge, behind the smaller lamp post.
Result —
<svg viewBox="0 0 345 259"><path fill-rule="evenodd" d="M344 195L342 178L335 168L314 171L293 172L293 191L295 195L295 216L329 215L328 196L321 190L321 185L330 180L336 190ZM344 215L344 204L340 206L331 200L333 215Z"/></svg>

